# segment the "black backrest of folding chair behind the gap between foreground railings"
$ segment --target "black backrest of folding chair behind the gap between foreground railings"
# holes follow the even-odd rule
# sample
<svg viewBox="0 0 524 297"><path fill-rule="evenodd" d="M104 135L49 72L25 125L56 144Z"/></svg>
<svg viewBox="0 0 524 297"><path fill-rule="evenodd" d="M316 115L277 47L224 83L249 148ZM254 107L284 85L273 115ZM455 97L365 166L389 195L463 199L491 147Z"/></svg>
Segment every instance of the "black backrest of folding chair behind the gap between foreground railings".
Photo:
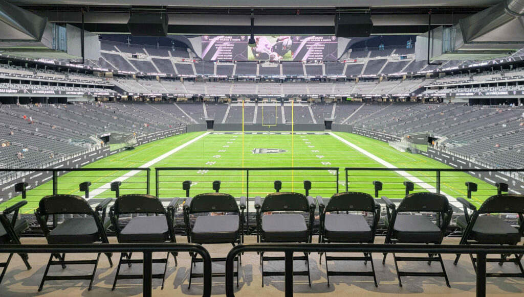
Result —
<svg viewBox="0 0 524 297"><path fill-rule="evenodd" d="M203 193L191 199L189 213L240 212L233 196L226 193Z"/></svg>

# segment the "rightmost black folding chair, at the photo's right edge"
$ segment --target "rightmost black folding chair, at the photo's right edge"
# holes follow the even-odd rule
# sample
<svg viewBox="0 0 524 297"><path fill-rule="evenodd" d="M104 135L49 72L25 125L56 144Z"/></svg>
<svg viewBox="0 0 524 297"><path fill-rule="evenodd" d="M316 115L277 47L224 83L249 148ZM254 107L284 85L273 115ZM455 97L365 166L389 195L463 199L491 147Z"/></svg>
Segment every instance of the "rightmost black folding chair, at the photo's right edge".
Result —
<svg viewBox="0 0 524 297"><path fill-rule="evenodd" d="M489 197L478 209L470 201L458 197L457 201L464 205L464 215L456 219L457 226L462 231L460 244L493 244L517 245L524 234L524 195L500 194ZM468 210L473 213L468 214ZM506 221L491 215L497 213L516 213L518 215L518 229ZM456 256L454 264L459 262L460 254ZM486 273L486 277L524 277L524 268L520 259L522 255L508 258L511 255L500 255L500 258L487 258L487 262L498 262L502 266L505 262L513 262L520 269L520 273ZM476 258L470 254L473 268L477 271Z"/></svg>

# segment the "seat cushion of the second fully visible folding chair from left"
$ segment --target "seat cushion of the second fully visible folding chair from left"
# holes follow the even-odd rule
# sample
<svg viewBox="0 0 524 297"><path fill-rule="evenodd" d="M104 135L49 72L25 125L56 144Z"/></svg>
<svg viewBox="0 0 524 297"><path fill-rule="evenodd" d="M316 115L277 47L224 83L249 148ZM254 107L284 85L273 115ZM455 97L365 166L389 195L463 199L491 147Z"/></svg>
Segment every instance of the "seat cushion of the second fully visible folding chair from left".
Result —
<svg viewBox="0 0 524 297"><path fill-rule="evenodd" d="M121 243L161 243L169 240L166 216L136 216L119 235Z"/></svg>

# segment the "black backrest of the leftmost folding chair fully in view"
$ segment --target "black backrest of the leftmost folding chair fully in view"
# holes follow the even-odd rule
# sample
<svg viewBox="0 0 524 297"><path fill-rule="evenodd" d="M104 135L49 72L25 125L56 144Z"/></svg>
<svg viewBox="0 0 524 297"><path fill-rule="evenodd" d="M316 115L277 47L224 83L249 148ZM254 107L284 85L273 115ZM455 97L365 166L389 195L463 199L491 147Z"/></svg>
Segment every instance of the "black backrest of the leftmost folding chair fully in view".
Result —
<svg viewBox="0 0 524 297"><path fill-rule="evenodd" d="M40 215L49 214L92 214L89 202L76 195L49 195L38 203Z"/></svg>

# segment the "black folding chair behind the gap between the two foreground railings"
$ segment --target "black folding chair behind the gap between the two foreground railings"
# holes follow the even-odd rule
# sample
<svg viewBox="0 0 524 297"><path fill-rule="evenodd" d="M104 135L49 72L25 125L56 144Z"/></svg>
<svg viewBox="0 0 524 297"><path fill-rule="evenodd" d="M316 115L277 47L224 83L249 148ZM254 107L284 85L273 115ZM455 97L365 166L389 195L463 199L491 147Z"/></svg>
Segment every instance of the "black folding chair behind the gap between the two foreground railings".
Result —
<svg viewBox="0 0 524 297"><path fill-rule="evenodd" d="M246 197L240 198L237 204L233 196L226 193L205 193L189 197L184 204L185 232L188 242L198 244L226 244L233 246L243 242L244 234L244 210L246 209ZM202 215L204 213L226 213L224 215ZM191 227L190 217L194 214L201 214ZM213 262L225 262L226 258L212 258ZM235 258L236 285L238 287L238 268L239 258ZM196 254L191 254L191 269L189 271L189 287L191 279L204 277L203 273L193 273L193 266L202 262L196 258ZM212 277L225 277L225 273L212 273Z"/></svg>

